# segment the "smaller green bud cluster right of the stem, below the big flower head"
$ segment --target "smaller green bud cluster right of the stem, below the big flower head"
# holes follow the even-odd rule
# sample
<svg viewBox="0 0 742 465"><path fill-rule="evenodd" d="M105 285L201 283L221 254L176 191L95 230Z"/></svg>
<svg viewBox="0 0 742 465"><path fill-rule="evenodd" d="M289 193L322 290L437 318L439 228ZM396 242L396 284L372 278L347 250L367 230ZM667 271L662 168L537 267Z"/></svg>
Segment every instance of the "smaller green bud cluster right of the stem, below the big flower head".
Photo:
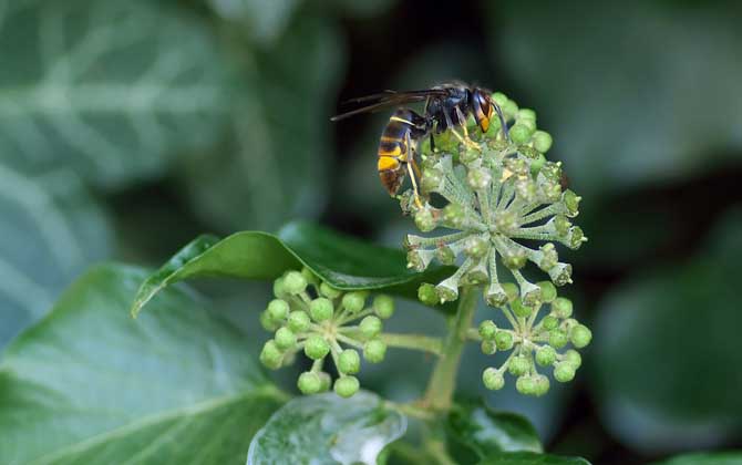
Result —
<svg viewBox="0 0 742 465"><path fill-rule="evenodd" d="M492 320L480 323L482 352L491 355L511 351L501 366L489 366L482 373L482 382L489 390L502 389L507 372L516 379L515 389L519 393L544 395L549 390L549 379L539 373L539 369L550 369L554 379L565 383L575 378L581 364L575 349L590 343L590 330L573 317L571 301L557 297L550 281L536 286L540 288L539 300L525 303L522 297L511 292L498 306L508 328L498 328ZM564 350L568 344L574 349Z"/></svg>

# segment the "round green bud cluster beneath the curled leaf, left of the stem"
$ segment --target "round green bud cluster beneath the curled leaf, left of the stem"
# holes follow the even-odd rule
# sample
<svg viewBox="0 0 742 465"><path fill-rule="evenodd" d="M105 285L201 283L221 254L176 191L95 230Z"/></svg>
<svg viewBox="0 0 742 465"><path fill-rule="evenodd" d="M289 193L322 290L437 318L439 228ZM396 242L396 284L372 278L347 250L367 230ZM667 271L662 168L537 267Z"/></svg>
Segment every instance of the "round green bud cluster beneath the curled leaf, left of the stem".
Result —
<svg viewBox="0 0 742 465"><path fill-rule="evenodd" d="M284 273L274 282L274 294L260 314L262 327L274 332L262 347L260 362L277 370L292 363L302 351L313 361L311 370L297 380L302 393L332 388L349 397L358 392L355 374L361 370L361 356L370 363L384 360L382 320L394 314L394 301L383 294L369 299L364 291L340 291L307 268ZM322 371L328 355L340 374L334 382Z"/></svg>

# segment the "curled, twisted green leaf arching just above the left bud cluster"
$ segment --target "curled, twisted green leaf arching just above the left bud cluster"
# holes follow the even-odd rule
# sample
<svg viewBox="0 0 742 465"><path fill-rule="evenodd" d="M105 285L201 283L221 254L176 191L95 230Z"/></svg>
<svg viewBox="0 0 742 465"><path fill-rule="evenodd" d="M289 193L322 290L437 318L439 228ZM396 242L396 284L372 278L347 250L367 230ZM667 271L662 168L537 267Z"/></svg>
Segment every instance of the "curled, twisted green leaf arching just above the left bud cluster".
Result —
<svg viewBox="0 0 742 465"><path fill-rule="evenodd" d="M338 289L383 289L410 298L416 296L423 280L442 279L447 271L436 267L422 273L411 271L401 250L372 246L307 223L291 223L277 236L244 231L223 240L214 236L197 238L144 281L132 306L132 316L136 317L162 289L184 279L267 280L301 266Z"/></svg>

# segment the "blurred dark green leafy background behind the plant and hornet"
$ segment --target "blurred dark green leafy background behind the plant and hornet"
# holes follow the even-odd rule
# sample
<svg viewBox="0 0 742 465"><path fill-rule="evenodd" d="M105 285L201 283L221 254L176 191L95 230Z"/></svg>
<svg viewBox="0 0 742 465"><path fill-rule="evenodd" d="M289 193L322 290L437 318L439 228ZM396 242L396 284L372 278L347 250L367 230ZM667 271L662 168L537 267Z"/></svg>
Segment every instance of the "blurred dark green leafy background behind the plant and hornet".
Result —
<svg viewBox="0 0 742 465"><path fill-rule="evenodd" d="M40 318L91 262L155 266L203 231L276 230L313 218L398 247L411 225L375 174L388 113L340 124L329 117L353 96L462 79L534 108L554 136L548 156L564 162L584 197L577 224L590 239L564 252L575 267L565 293L594 330L576 381L543 399L474 388L486 363L476 348L464 359L462 391L526 414L547 451L596 464L742 447L739 3L258 3L133 2L136 27L110 27L141 38L93 56L90 72L72 81L81 92L61 104L62 120L82 122L71 137L60 137L62 123L43 108L0 112L0 258L43 290L32 296L23 281L6 281L0 341ZM0 107L14 108L11 91L51 75L35 32L42 12L70 25L59 56L99 40L87 34L93 12L115 9L31 4L11 8L0 29ZM80 103L83 84L136 89L145 64L162 58L185 71L154 72L155 82L205 82L216 100L195 114L167 110L195 101L190 91L152 97L152 114L130 108L131 97L121 108ZM155 126L161 143L145 144L135 128ZM61 254L44 237L54 227L66 228L64 248L79 254ZM248 329L251 345L267 338L255 328L267 286L207 283L204 291L215 311ZM420 306L403 309L394 330L443 326ZM405 356L362 383L414 397L430 361Z"/></svg>

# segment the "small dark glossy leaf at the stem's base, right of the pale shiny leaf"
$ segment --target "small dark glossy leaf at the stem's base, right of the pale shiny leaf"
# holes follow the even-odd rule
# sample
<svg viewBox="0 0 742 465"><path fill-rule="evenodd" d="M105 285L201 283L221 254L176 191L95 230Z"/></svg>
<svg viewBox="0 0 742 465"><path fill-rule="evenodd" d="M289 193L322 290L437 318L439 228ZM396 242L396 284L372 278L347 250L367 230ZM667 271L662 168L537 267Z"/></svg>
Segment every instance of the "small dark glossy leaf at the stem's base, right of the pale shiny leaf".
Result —
<svg viewBox="0 0 742 465"><path fill-rule="evenodd" d="M456 404L446 418L449 441L480 458L496 452L542 452L534 426L515 413L493 412L482 402Z"/></svg>

